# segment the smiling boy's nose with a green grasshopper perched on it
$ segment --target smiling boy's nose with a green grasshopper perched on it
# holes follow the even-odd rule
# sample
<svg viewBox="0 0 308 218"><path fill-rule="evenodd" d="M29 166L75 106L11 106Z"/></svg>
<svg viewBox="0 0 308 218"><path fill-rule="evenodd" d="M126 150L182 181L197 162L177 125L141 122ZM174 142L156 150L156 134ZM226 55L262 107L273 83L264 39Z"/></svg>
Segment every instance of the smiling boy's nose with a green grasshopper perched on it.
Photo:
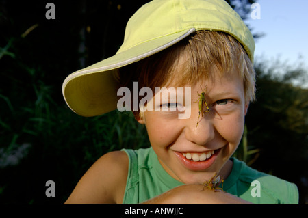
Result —
<svg viewBox="0 0 308 218"><path fill-rule="evenodd" d="M192 115L187 120L186 139L201 146L205 146L209 141L214 139L215 130L210 116L210 112L204 113L203 116L200 114L198 122L198 111L192 109ZM198 126L196 125L197 122Z"/></svg>

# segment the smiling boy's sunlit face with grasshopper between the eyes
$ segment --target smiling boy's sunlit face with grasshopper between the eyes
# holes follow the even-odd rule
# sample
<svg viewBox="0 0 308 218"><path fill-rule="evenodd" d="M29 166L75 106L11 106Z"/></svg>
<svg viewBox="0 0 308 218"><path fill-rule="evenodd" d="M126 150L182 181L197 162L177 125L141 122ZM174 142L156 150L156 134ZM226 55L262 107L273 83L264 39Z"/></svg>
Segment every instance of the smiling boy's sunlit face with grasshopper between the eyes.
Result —
<svg viewBox="0 0 308 218"><path fill-rule="evenodd" d="M190 102L184 100L183 106L177 105L179 110L190 106L190 118L179 119L178 114L183 112L161 109L145 111L143 120L138 120L146 125L151 146L162 167L170 176L185 184L201 184L215 172L230 171L228 160L238 147L244 131L248 103L244 100L242 79L235 72L227 72L224 77L211 73L215 75L212 79L200 81L191 87ZM203 90L205 86L207 89ZM200 115L197 126L198 94L204 91L210 111ZM176 102L161 100L153 105L175 107L175 104L164 105L166 103ZM227 174L229 172L221 176Z"/></svg>

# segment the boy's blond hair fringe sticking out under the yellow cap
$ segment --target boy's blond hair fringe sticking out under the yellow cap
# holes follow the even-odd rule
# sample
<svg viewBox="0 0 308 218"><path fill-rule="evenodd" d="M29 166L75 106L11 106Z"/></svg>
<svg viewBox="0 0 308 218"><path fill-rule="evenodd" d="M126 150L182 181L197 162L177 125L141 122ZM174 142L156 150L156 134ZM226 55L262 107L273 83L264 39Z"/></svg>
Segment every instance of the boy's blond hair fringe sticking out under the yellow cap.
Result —
<svg viewBox="0 0 308 218"><path fill-rule="evenodd" d="M179 64L183 57L185 64ZM222 75L232 70L238 72L243 79L246 102L255 100L253 63L242 44L221 31L197 31L164 51L120 68L120 86L131 88L132 81L138 81L139 88L152 90L168 86L170 81L177 81L178 87L194 85L200 79L211 78L213 66ZM140 115L134 114L136 118Z"/></svg>

